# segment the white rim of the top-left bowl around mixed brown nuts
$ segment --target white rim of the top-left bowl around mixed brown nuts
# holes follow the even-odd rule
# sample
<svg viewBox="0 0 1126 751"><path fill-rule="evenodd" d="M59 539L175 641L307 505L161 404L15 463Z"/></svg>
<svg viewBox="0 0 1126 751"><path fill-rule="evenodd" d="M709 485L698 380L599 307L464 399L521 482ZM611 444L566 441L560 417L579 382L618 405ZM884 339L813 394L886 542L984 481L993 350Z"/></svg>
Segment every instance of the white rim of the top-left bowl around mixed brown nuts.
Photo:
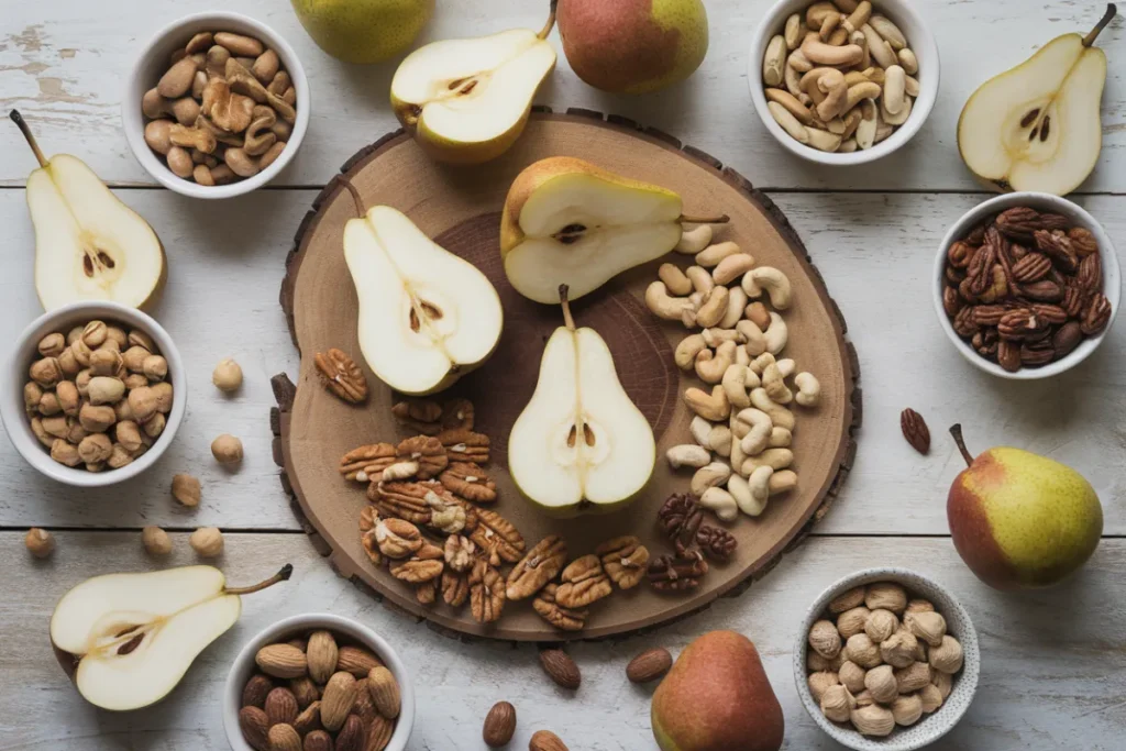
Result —
<svg viewBox="0 0 1126 751"><path fill-rule="evenodd" d="M149 149L149 144L144 141L144 120L145 117L141 113L141 102L133 98L133 89L136 87L138 79L141 78L141 69L144 66L146 61L153 55L157 47L159 47L166 39L180 33L185 26L193 24L198 24L203 21L215 21L222 24L224 21L232 21L235 24L245 25L260 35L262 42L267 42L269 47L272 47L278 56L282 59L283 65L286 72L289 73L289 78L293 81L294 90L297 95L297 105L295 107L297 111L297 118L294 122L293 133L289 136L289 141L286 142L286 147L282 151L278 158L272 164L267 167L265 170L258 175L239 180L236 182L231 182L229 185L217 185L217 186L205 186L198 185L196 182L189 182L181 177L172 173L168 169L167 164L163 164ZM185 39L187 42L187 39ZM155 86L155 83L153 83ZM149 89L152 87L145 87ZM191 14L185 16L178 20L175 20L166 26L161 27L155 32L152 38L145 44L141 50L140 54L133 62L133 66L129 69L129 74L125 81L125 90L122 96L122 120L125 129L125 138L129 144L129 149L133 151L133 155L141 163L149 175L151 175L162 186L178 193L184 196L189 196L191 198L207 198L207 199L220 199L220 198L232 198L234 196L242 196L261 186L266 185L278 173L286 168L286 166L296 155L297 150L301 147L302 142L305 138L305 132L309 129L309 118L310 109L312 107L312 95L309 89L309 79L305 75L305 69L301 64L301 60L297 57L297 53L294 48L286 42L285 37L275 32L271 27L266 24L245 16L243 14L231 12L226 10L209 10L197 14ZM131 123L136 126L134 131L131 127Z"/></svg>

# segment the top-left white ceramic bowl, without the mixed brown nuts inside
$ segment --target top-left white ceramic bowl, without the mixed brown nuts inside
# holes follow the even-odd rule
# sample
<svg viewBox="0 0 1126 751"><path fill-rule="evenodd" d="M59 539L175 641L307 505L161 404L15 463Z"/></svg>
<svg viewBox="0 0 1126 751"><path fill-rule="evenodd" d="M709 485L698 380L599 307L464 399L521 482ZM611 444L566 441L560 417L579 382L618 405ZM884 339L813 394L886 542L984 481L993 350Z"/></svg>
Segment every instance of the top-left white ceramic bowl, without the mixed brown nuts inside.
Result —
<svg viewBox="0 0 1126 751"><path fill-rule="evenodd" d="M234 32L257 37L267 47L275 50L282 60L283 70L293 79L297 93L297 120L293 125L293 135L286 142L286 147L272 164L258 175L231 182L229 185L205 186L177 177L168 169L164 159L153 152L144 141L145 117L141 111L141 98L144 92L157 86L157 81L168 70L168 59L172 52L187 44L198 32ZM169 190L191 196L193 198L230 198L260 188L285 169L289 160L297 153L301 142L309 129L309 115L312 100L309 91L309 80L297 54L282 36L265 24L240 14L208 11L195 14L173 21L157 32L152 41L145 45L137 56L133 70L129 71L125 91L122 95L122 122L125 126L125 137L129 142L133 155L149 175L153 176Z"/></svg>

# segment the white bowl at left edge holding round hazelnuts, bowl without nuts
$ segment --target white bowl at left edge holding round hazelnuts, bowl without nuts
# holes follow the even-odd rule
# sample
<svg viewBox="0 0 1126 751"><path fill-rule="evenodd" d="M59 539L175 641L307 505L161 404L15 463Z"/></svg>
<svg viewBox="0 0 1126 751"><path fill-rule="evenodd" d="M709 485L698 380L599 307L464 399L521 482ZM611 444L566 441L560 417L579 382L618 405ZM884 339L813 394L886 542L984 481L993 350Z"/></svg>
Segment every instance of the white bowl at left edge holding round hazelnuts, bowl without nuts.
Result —
<svg viewBox="0 0 1126 751"><path fill-rule="evenodd" d="M28 367L33 361L39 359L39 340L55 331L65 334L73 327L89 321L124 324L126 328L140 329L149 334L160 349L160 354L168 360L167 381L176 390L172 411L166 418L164 431L152 447L135 462L118 470L104 472L88 472L82 467L68 467L52 459L50 452L32 432L32 423L24 412L24 384L30 379L27 374ZM15 347L9 352L5 375L3 384L0 385L0 414L3 417L5 432L16 446L16 450L41 473L75 488L113 485L135 477L151 467L172 442L172 438L184 420L184 410L187 405L188 378L184 370L180 352L172 343L172 338L151 316L118 303L71 303L35 319L19 334Z"/></svg>

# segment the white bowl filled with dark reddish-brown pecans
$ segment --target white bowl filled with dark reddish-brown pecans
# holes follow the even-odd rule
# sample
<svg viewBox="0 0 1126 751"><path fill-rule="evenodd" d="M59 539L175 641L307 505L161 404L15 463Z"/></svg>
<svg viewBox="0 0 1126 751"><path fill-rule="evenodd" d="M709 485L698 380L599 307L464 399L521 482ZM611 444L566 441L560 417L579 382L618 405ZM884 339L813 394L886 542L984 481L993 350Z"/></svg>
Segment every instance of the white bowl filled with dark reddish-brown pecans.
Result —
<svg viewBox="0 0 1126 751"><path fill-rule="evenodd" d="M1102 343L1118 313L1118 257L1075 204L999 196L966 213L935 260L935 311L958 351L1002 378L1058 375Z"/></svg>

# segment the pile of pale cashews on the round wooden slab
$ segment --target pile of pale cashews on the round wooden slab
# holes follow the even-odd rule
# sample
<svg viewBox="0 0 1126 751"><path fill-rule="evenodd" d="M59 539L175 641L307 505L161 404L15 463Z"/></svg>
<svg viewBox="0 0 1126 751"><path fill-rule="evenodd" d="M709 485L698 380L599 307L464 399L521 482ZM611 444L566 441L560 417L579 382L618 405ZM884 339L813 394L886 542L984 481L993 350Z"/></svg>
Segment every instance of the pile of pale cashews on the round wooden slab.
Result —
<svg viewBox="0 0 1126 751"><path fill-rule="evenodd" d="M692 330L677 346L676 363L705 387L685 392L696 442L673 446L667 458L674 470L696 471L691 492L721 520L757 517L771 495L797 486L789 405L821 400L817 378L780 358L789 332L778 311L790 306L793 289L785 274L756 266L734 242L712 244L711 225L685 232L677 251L694 254L696 265L662 265L645 304Z"/></svg>

